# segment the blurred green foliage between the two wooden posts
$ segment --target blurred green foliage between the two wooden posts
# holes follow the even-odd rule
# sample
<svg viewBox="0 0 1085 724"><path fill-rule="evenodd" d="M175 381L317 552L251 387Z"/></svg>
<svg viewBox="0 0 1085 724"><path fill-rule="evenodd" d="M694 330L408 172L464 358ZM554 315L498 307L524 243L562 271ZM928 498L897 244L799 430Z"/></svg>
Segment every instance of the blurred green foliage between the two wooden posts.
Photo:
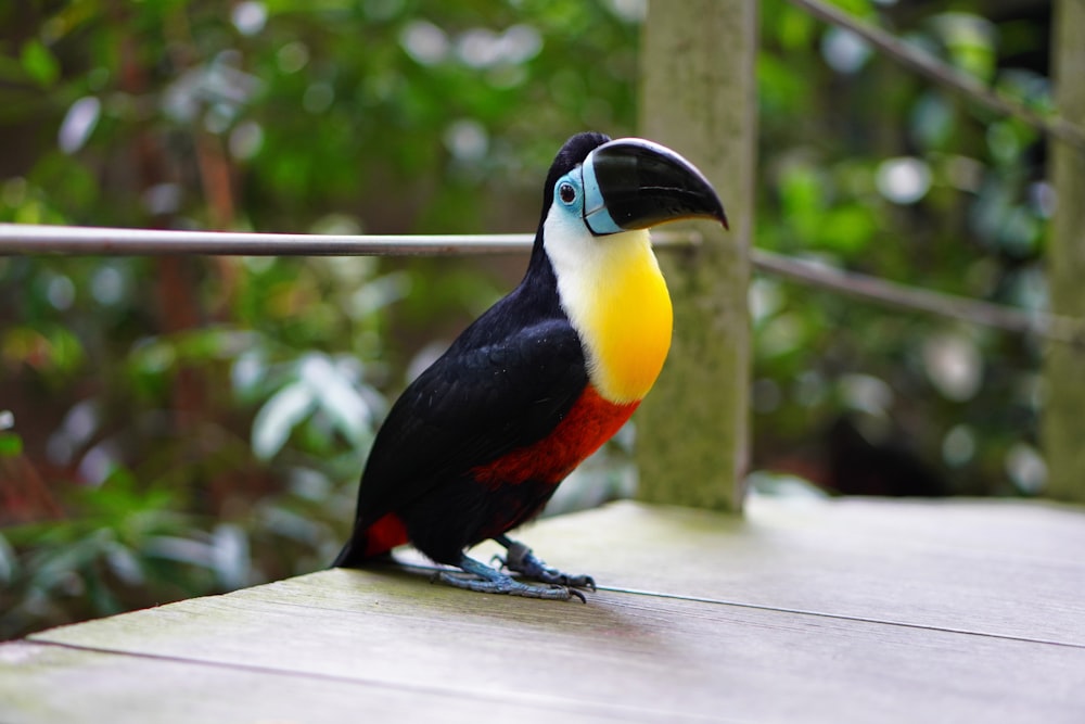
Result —
<svg viewBox="0 0 1085 724"><path fill-rule="evenodd" d="M1049 110L1043 7L1032 17L1000 17L984 16L990 9L979 3L923 13L855 4L847 9ZM1037 134L919 81L789 3L766 2L763 14L773 20L760 59L766 193L757 243L1042 308L1051 193ZM770 277L756 281L751 300L758 465L809 473L826 453L795 465L796 450L850 415L871 437L904 443L941 468L952 492L1032 494L1042 485L1037 340L902 316ZM1026 454L1014 457L1011 441Z"/></svg>

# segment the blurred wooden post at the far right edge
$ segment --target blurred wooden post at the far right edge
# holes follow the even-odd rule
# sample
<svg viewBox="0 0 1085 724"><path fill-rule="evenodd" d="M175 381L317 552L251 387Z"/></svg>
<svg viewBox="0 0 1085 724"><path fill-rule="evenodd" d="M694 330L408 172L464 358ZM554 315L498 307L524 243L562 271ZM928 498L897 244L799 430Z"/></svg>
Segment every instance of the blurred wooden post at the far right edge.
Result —
<svg viewBox="0 0 1085 724"><path fill-rule="evenodd" d="M1065 120L1085 125L1085 2L1057 0L1052 34L1056 106ZM1085 319L1085 152L1055 139L1050 149L1058 199L1047 251L1051 312ZM1046 493L1085 501L1085 350L1049 342L1044 386Z"/></svg>

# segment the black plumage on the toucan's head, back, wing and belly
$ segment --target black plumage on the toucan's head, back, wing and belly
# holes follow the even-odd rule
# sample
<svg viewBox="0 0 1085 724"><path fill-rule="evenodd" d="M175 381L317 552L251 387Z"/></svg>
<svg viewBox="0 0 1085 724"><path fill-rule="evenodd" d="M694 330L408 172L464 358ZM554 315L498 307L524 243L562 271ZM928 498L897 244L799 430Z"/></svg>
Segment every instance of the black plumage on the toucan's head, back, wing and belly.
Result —
<svg viewBox="0 0 1085 724"><path fill-rule="evenodd" d="M366 463L355 532L335 566L367 558L369 528L397 512L430 558L456 563L463 548L537 512L553 486L536 482L506 500L470 470L551 432L587 385L584 350L558 297L542 224L559 178L610 140L573 137L550 168L535 244L520 284L471 323L396 401ZM513 509L519 508L519 509Z"/></svg>

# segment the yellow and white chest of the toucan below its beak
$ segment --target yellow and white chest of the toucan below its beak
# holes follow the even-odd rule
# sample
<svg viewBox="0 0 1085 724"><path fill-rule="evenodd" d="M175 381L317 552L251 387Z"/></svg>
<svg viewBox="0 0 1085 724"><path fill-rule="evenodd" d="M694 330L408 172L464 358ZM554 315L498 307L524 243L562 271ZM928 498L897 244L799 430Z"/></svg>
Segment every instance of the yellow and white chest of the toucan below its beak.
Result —
<svg viewBox="0 0 1085 724"><path fill-rule="evenodd" d="M562 304L587 353L588 378L604 399L620 404L648 394L671 348L673 323L648 233L629 234L595 240L597 253L582 256L575 274L559 275Z"/></svg>

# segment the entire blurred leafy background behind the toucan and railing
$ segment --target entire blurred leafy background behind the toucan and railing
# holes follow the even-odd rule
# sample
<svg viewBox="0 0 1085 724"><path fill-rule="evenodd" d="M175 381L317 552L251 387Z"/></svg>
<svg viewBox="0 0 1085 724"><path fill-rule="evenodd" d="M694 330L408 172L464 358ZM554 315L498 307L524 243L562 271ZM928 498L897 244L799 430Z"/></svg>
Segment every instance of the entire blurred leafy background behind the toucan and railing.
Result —
<svg viewBox="0 0 1085 724"><path fill-rule="evenodd" d="M1045 0L837 4L1049 107ZM0 3L0 221L533 232L566 137L636 132L643 13ZM762 34L758 246L1045 307L1035 131L783 0ZM388 401L524 262L0 258L0 638L326 567ZM755 490L1043 492L1039 340L771 276L750 302ZM630 495L633 444L554 509Z"/></svg>

